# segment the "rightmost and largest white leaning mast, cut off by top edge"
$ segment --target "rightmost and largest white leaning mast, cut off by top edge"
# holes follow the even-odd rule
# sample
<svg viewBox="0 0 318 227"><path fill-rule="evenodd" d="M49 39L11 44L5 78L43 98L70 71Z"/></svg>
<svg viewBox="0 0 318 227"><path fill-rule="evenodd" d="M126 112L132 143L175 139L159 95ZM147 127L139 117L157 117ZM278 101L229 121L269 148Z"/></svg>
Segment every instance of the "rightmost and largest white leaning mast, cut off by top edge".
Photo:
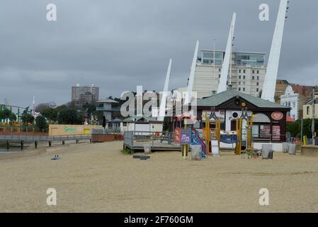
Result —
<svg viewBox="0 0 318 227"><path fill-rule="evenodd" d="M276 27L273 35L271 53L268 58L268 66L261 94L262 99L275 101L276 79L278 74L278 66L280 60L280 50L283 41L283 33L286 19L286 11L288 9L288 0L280 0Z"/></svg>

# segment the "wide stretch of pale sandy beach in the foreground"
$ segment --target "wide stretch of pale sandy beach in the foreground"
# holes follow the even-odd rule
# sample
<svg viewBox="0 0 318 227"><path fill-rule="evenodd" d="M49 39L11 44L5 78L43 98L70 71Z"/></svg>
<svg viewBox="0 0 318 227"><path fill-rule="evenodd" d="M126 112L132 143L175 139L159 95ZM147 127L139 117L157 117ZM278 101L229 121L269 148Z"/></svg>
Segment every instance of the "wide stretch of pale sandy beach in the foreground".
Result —
<svg viewBox="0 0 318 227"><path fill-rule="evenodd" d="M82 143L0 160L0 211L318 212L317 157L222 153L191 161L165 152L142 161L122 147ZM62 160L50 160L55 154ZM57 206L47 206L48 188L57 190ZM269 206L259 205L261 188L269 190Z"/></svg>

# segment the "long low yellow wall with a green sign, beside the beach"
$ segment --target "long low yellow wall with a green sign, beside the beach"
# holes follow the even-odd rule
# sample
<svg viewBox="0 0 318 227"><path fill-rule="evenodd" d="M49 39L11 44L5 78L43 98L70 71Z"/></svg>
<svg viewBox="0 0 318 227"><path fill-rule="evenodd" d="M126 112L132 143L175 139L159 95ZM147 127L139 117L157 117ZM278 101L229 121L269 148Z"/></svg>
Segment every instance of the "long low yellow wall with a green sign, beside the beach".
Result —
<svg viewBox="0 0 318 227"><path fill-rule="evenodd" d="M103 129L102 126L49 125L49 135L90 135L91 129Z"/></svg>

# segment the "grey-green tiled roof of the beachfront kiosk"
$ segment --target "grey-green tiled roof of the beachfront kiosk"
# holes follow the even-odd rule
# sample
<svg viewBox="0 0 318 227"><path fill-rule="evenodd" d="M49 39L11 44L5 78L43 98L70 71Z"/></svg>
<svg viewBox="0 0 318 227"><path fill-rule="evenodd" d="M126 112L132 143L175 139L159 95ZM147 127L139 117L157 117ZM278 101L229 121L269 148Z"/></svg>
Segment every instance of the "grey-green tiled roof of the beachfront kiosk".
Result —
<svg viewBox="0 0 318 227"><path fill-rule="evenodd" d="M200 99L198 101L193 102L192 105L197 104L197 106L217 107L236 96L241 97L242 99L248 101L249 103L259 108L289 109L288 107L282 106L280 104L276 104L275 102L267 101L256 96L251 96L249 94L244 94L242 92L237 92L234 90L227 90L225 92L221 92L219 94L215 94L215 95Z"/></svg>

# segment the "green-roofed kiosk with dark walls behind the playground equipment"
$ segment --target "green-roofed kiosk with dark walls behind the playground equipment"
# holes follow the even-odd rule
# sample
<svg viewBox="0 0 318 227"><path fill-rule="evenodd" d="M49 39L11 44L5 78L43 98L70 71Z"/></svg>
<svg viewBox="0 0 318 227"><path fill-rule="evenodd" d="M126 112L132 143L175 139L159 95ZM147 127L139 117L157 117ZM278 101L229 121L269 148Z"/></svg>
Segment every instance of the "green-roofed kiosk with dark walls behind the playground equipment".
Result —
<svg viewBox="0 0 318 227"><path fill-rule="evenodd" d="M215 114L221 119L222 131L235 131L236 119L242 116L242 107L246 108L249 116L253 115L253 141L256 143L282 143L286 140L286 116L290 108L263 100L256 96L244 94L234 90L227 90L219 94L205 97L191 103L189 110L196 106L198 122L194 128L205 127L205 114L210 114L215 108ZM175 111L169 117L169 130L174 128ZM243 128L246 126L246 123ZM215 128L215 121L211 119L210 128Z"/></svg>

